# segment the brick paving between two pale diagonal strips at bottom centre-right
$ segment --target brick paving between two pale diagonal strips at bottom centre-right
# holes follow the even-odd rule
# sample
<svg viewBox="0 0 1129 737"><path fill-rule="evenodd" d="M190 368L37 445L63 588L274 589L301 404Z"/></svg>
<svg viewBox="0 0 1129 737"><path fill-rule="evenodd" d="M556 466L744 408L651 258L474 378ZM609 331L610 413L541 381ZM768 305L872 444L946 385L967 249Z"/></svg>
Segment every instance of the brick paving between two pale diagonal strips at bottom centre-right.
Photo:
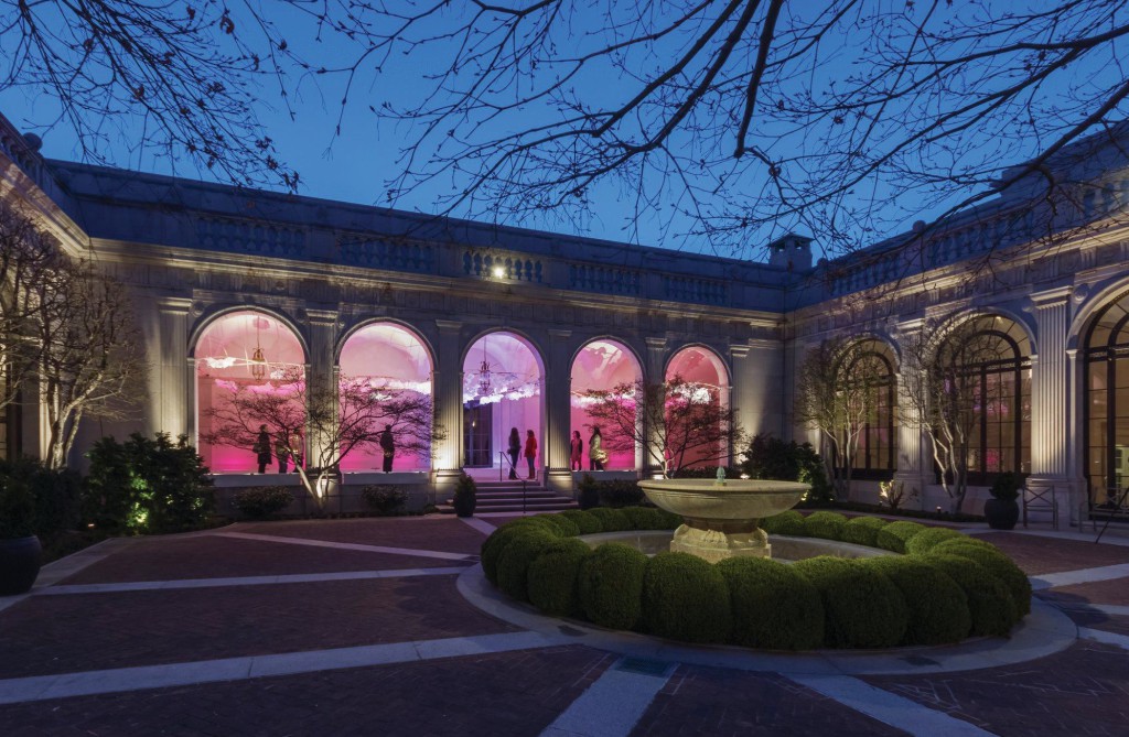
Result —
<svg viewBox="0 0 1129 737"><path fill-rule="evenodd" d="M774 673L681 666L631 737L904 734Z"/></svg>

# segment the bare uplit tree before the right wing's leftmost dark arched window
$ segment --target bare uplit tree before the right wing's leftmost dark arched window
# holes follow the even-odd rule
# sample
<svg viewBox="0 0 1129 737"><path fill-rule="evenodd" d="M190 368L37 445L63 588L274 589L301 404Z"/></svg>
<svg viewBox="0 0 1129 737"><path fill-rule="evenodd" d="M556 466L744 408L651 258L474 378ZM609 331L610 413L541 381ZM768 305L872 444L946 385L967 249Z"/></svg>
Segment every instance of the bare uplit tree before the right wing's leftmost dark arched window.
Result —
<svg viewBox="0 0 1129 737"><path fill-rule="evenodd" d="M889 378L866 342L857 337L823 341L804 358L796 376L796 421L816 430L835 493L850 495L859 439L877 422L875 387Z"/></svg>

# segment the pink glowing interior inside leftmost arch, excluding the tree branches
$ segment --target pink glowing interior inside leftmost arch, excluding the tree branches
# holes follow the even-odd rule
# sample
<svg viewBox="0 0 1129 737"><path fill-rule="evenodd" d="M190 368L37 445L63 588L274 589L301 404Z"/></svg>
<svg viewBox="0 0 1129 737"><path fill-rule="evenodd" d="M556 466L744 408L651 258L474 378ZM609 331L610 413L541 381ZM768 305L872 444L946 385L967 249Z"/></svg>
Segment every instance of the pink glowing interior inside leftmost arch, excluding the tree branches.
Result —
<svg viewBox="0 0 1129 737"><path fill-rule="evenodd" d="M256 346L266 362L262 380L252 376L252 357ZM279 378L282 371L301 369L306 354L301 343L289 326L278 318L257 310L243 309L228 313L213 321L196 342L196 428L200 435L211 430L208 410L229 402L236 386L256 386L260 391L286 392ZM210 446L198 444L204 463L212 473L252 473L257 471L255 454L251 448ZM278 466L266 472L277 473Z"/></svg>

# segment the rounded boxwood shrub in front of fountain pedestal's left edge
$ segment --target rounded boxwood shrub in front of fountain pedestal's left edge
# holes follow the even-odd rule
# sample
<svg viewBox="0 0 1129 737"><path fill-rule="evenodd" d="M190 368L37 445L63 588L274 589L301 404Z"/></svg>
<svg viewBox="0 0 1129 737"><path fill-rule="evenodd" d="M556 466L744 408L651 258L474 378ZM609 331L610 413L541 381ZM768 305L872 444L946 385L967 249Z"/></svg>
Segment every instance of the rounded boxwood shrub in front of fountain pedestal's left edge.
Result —
<svg viewBox="0 0 1129 737"><path fill-rule="evenodd" d="M642 572L647 632L685 642L729 638L729 588L711 563L690 553L658 553Z"/></svg>

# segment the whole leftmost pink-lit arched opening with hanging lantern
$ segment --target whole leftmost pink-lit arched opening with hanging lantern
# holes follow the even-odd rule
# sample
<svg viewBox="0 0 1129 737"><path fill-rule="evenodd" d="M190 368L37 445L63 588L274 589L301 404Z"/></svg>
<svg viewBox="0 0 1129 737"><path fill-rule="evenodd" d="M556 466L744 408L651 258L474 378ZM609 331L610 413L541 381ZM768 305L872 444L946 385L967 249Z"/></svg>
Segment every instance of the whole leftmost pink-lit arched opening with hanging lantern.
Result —
<svg viewBox="0 0 1129 737"><path fill-rule="evenodd" d="M196 366L198 450L212 473L254 473L259 428L271 438L268 472L279 470L281 433L301 445L306 353L289 325L270 313L221 315L200 334ZM288 470L291 466L288 459Z"/></svg>

